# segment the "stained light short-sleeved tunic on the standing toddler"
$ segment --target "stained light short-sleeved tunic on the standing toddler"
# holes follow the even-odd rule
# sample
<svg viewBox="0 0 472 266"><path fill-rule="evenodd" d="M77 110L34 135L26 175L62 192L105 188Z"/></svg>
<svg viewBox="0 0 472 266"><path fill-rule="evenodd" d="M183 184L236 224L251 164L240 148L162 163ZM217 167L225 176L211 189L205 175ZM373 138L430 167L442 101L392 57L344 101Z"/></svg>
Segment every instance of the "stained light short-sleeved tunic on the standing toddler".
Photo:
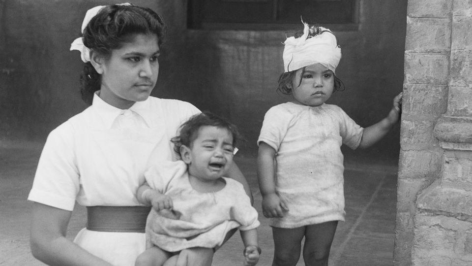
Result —
<svg viewBox="0 0 472 266"><path fill-rule="evenodd" d="M340 107L306 106L293 102L270 108L261 141L275 149L277 194L289 211L270 225L296 228L327 221L344 221L342 143L357 148L363 128Z"/></svg>

